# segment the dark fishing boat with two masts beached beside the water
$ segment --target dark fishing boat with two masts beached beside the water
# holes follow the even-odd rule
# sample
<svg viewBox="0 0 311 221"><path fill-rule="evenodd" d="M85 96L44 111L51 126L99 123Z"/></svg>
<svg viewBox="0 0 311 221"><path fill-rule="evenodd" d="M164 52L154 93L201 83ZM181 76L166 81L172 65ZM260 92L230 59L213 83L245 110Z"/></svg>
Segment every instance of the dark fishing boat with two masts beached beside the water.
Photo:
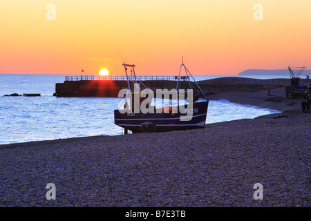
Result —
<svg viewBox="0 0 311 221"><path fill-rule="evenodd" d="M128 131L132 133L165 132L205 127L209 100L183 61L180 65L176 90L162 90L160 92L157 90L156 93L142 84L140 79L135 75L135 65L122 65L124 66L128 89L126 89L125 95L123 94L123 102L117 110L114 110L114 117L115 124L124 128L125 134ZM186 79L189 81L190 76L194 80L196 86L198 86L200 92L204 95L204 99L193 96L190 82L190 89L183 90L178 88L182 67L185 68ZM127 74L128 68L133 70L133 75L129 76ZM140 84L142 88L140 88ZM152 106L152 99L154 99L155 94L156 99L171 96L175 98L174 100L177 104L175 106L173 104L164 104L160 107L156 107L156 105Z"/></svg>

